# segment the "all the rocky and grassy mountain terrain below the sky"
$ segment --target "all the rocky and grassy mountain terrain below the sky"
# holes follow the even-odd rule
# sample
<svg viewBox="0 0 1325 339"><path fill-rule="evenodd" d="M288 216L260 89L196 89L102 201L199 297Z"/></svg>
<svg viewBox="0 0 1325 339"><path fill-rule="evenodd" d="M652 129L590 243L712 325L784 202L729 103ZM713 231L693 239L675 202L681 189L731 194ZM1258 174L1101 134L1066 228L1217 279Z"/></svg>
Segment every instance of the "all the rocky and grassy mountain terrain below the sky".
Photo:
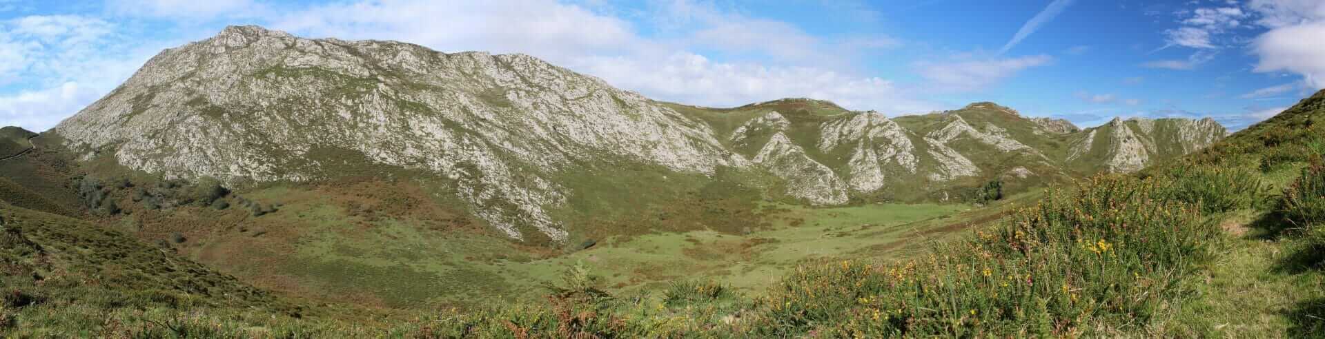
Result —
<svg viewBox="0 0 1325 339"><path fill-rule="evenodd" d="M1308 336L1322 119L696 107L232 26L0 160L0 335Z"/></svg>

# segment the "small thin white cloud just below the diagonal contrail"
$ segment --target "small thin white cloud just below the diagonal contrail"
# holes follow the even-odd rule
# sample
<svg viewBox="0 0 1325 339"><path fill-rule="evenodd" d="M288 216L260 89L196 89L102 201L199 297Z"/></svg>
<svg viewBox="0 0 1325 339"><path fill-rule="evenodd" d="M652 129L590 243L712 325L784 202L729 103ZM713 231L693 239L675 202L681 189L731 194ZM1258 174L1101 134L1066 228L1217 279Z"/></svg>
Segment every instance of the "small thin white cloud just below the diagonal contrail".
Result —
<svg viewBox="0 0 1325 339"><path fill-rule="evenodd" d="M916 64L917 73L929 79L937 89L970 91L983 89L1018 72L1052 62L1049 56L1027 56L1016 58L971 60L955 62Z"/></svg>

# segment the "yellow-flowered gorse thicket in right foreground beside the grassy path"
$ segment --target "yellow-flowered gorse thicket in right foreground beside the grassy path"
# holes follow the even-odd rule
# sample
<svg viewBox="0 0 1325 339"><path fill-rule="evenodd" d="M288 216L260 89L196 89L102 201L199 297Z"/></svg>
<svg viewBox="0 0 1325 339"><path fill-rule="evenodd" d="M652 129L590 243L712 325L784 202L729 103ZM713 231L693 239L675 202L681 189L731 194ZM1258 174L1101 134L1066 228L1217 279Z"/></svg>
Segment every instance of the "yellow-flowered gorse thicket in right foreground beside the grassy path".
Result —
<svg viewBox="0 0 1325 339"><path fill-rule="evenodd" d="M1210 183L1226 184L1226 183ZM1167 177L1096 176L1000 226L889 265L807 267L761 299L762 335L1145 331L1211 258L1218 226Z"/></svg>

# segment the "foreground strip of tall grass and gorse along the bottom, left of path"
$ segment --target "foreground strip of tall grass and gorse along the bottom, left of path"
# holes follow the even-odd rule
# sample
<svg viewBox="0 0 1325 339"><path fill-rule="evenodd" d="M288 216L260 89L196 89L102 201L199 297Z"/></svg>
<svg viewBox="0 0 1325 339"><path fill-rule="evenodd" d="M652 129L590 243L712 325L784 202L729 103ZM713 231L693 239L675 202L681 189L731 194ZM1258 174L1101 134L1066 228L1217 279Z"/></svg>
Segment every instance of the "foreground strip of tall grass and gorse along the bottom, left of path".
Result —
<svg viewBox="0 0 1325 339"><path fill-rule="evenodd" d="M1260 187L1251 173L1189 168L1145 179L1094 176L1051 191L1036 205L928 256L802 266L757 298L704 282L677 282L661 298L620 298L599 290L576 266L546 303L443 311L404 322L264 319L242 310L159 307L105 313L29 306L0 314L17 316L11 324L45 323L34 331L9 327L20 336L1165 335L1155 328L1190 295L1195 270L1212 258L1222 238L1211 213L1249 205ZM54 319L85 322L62 328Z"/></svg>

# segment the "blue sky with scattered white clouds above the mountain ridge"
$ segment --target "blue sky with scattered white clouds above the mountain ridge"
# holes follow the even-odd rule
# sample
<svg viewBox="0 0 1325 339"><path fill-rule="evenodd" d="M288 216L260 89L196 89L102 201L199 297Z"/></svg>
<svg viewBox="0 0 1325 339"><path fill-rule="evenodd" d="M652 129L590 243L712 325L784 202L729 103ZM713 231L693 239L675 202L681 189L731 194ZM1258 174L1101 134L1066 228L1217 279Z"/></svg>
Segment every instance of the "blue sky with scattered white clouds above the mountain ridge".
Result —
<svg viewBox="0 0 1325 339"><path fill-rule="evenodd" d="M1242 128L1325 87L1325 1L0 0L0 124L46 130L225 25L526 53L664 101L994 101Z"/></svg>

